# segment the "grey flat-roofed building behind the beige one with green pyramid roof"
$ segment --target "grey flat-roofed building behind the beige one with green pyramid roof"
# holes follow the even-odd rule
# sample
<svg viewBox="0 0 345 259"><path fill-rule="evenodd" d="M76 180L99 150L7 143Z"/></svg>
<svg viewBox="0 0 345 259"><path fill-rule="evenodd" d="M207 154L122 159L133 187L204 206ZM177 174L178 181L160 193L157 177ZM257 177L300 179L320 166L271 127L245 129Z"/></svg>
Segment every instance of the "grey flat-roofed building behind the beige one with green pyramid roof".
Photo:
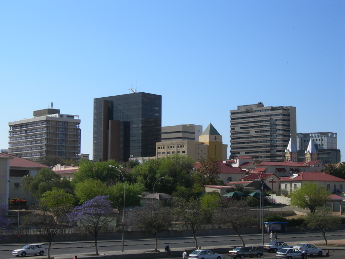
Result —
<svg viewBox="0 0 345 259"><path fill-rule="evenodd" d="M199 136L203 133L202 125L181 124L176 126L162 127L162 142L194 140L199 141Z"/></svg>

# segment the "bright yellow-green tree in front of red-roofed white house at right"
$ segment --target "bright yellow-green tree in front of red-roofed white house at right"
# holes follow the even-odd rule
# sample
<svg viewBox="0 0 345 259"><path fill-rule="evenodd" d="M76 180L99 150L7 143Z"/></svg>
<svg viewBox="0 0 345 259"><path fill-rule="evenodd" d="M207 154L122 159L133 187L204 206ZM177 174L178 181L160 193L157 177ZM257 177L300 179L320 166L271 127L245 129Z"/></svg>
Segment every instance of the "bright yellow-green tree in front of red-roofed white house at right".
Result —
<svg viewBox="0 0 345 259"><path fill-rule="evenodd" d="M330 194L323 186L306 183L301 188L294 189L289 196L292 206L308 208L313 213L317 207L323 207L326 204Z"/></svg>

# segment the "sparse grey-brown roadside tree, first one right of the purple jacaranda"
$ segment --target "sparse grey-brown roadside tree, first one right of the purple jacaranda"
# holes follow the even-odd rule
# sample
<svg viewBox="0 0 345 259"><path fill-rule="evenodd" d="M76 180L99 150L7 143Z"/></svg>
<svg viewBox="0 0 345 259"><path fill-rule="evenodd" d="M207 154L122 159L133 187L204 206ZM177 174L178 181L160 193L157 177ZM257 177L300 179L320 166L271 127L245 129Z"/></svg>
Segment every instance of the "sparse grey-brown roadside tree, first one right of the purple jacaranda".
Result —
<svg viewBox="0 0 345 259"><path fill-rule="evenodd" d="M161 202L149 200L144 201L143 206L135 207L130 211L128 221L155 237L155 252L157 252L157 233L168 230L173 218L170 208L163 207Z"/></svg>

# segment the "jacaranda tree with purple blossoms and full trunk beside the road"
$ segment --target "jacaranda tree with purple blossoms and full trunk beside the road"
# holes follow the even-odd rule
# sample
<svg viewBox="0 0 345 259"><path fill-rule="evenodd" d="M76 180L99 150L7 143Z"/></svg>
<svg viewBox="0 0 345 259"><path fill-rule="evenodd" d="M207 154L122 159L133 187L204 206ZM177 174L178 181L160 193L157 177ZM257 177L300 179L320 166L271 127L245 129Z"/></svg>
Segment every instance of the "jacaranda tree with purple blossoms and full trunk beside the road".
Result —
<svg viewBox="0 0 345 259"><path fill-rule="evenodd" d="M70 223L83 226L95 238L96 256L99 255L97 248L98 233L110 222L113 222L115 216L111 202L107 198L108 196L97 196L87 200L67 215Z"/></svg>

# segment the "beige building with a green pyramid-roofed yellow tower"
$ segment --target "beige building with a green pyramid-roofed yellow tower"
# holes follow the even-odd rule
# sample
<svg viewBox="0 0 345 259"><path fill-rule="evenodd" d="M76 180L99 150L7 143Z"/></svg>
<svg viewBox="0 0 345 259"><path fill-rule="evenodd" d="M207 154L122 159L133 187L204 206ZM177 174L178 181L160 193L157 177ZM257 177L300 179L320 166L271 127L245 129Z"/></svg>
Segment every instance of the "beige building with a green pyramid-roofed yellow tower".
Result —
<svg viewBox="0 0 345 259"><path fill-rule="evenodd" d="M180 140L156 143L156 158L166 158L174 153L188 155L198 162L201 157L216 157L226 160L228 145L223 144L222 136L210 123L199 136L199 141Z"/></svg>

